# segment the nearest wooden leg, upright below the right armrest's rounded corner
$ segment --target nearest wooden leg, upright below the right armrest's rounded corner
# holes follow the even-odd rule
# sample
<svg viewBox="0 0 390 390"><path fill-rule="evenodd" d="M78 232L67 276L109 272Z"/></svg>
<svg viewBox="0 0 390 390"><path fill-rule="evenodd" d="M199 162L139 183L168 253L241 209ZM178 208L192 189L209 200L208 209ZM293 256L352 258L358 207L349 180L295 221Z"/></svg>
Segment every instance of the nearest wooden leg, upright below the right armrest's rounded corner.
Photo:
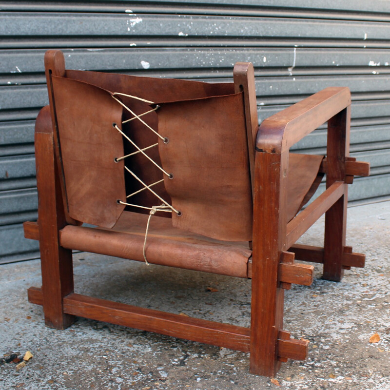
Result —
<svg viewBox="0 0 390 390"><path fill-rule="evenodd" d="M288 154L258 152L255 164L263 169L255 170L250 370L274 376L280 368L277 340L283 326L278 267L285 249Z"/></svg>

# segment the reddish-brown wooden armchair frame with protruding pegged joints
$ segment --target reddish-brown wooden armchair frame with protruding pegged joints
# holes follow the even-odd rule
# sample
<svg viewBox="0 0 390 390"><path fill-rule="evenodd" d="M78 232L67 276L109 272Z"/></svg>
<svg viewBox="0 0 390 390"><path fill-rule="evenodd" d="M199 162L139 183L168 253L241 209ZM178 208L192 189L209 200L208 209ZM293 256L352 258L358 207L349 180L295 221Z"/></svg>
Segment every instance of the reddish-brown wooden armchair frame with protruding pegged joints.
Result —
<svg viewBox="0 0 390 390"><path fill-rule="evenodd" d="M280 363L305 359L308 342L290 338L283 330L284 290L291 283L310 285L313 267L294 263L323 263L324 278L342 279L344 269L364 267L365 256L345 245L347 184L354 175L369 174L369 164L349 155L350 92L327 88L263 121L257 131L256 96L252 64L234 68L236 92L245 100L248 154L254 204L253 254L247 277L252 278L251 327L243 328L181 315L138 308L74 292L72 248L61 245L61 234L69 225L63 206L63 185L52 75L63 75L60 52L46 54L46 76L50 107L37 118L35 148L39 221L26 222L26 238L39 240L42 288L28 290L29 301L43 306L45 324L65 329L82 316L188 340L250 352L254 374L274 376ZM287 221L289 149L298 140L328 121L327 157L321 164L326 173L326 191ZM254 148L255 144L255 148ZM297 245L295 241L324 213L324 247ZM103 253L104 254L104 253Z"/></svg>

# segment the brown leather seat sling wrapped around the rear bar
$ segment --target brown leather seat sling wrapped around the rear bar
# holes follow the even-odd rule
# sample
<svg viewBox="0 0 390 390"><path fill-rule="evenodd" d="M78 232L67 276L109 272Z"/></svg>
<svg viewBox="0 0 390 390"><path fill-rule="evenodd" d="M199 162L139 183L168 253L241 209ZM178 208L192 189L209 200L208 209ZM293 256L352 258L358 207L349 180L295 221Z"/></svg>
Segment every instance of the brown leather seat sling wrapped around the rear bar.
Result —
<svg viewBox="0 0 390 390"><path fill-rule="evenodd" d="M64 248L144 261L147 218L124 212L110 230L68 225L60 231L60 244ZM146 241L149 263L246 278L251 255L248 242L218 242L176 229L167 218L151 217Z"/></svg>

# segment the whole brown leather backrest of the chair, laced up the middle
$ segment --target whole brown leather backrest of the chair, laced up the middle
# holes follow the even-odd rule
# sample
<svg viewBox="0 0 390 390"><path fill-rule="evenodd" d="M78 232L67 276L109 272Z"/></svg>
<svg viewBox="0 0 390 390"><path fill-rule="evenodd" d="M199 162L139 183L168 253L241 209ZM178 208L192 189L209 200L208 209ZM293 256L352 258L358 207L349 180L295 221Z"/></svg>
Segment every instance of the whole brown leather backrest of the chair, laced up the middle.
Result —
<svg viewBox="0 0 390 390"><path fill-rule="evenodd" d="M142 119L170 139L168 144L160 140L158 149L146 153L174 174L173 179L165 177L153 187L181 211L181 216L173 216L173 224L224 240L251 239L244 103L242 93L234 94L233 83L67 70L64 78L53 77L53 90L73 218L112 227L123 210L116 202L118 198L125 200L123 162L115 163L114 157L135 148L127 141L122 143L122 136L112 126L115 122L121 127L121 121L132 117L112 98L112 93L119 92L156 103L170 102L161 103L156 112ZM137 115L151 109L146 102L118 98ZM122 130L140 148L158 140L138 120L124 123ZM125 165L147 184L162 179L161 172L139 154L127 158ZM142 188L129 174L125 181L127 194ZM149 191L133 196L131 203L146 207L161 204ZM83 204L88 206L84 209Z"/></svg>

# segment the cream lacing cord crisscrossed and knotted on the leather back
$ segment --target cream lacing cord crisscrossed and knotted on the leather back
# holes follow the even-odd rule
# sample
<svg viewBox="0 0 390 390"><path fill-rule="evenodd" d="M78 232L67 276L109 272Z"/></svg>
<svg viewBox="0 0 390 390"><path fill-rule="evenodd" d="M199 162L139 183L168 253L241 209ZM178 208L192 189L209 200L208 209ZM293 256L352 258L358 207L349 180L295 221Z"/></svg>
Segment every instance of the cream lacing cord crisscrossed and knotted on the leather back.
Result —
<svg viewBox="0 0 390 390"><path fill-rule="evenodd" d="M132 118L130 119L126 119L124 121L122 121L122 124L123 123L127 123L127 122L130 122L131 120L134 120L134 119L137 119L139 120L141 123L143 123L149 130L151 130L154 134L156 134L157 137L159 137L164 143L168 143L169 140L168 138L166 137L162 137L160 134L158 134L156 132L156 130L154 130L152 127L150 127L143 119L141 119L141 117L143 117L144 115L146 114L149 114L149 113L152 113L154 111L156 111L158 109L158 106L156 106L155 108L153 108L152 110L149 110L147 112L144 112L142 114L139 114L137 115L136 113L134 113L129 107L127 107L124 103L122 103L122 101L120 101L118 98L116 98L116 95L119 95L119 96L126 96L128 98L133 98L133 99L137 99L137 100L141 100L145 103L153 103L153 101L150 101L150 100L146 100L146 99L142 99L142 98L138 98L136 96L133 96L133 95L126 95L126 94L122 94L122 93L119 93L119 92L114 92L111 96L112 98L114 98L123 108L125 108L131 115L133 115ZM146 153L145 153L145 150L148 150L148 149L151 149L153 147L156 147L158 146L158 142L157 143L154 143L153 145L150 145L150 146L147 146L146 148L142 148L140 149L138 147L138 145L132 140L130 139L130 137L128 137L125 133L123 133L123 131L117 126L116 123L113 123L113 127L115 129L117 129L117 131L123 136L125 137L136 149L137 151L136 152L133 152L133 153L130 153L129 155L126 155L126 156L121 156L121 157L116 157L114 160L116 162L119 162L127 157L130 157L130 156L134 156L134 155L137 155L138 153L141 153L143 156L145 156L149 161L151 161L162 173L163 175L166 175L168 176L170 179L173 178L173 175L166 172L162 167L160 167L156 161L154 161L151 157L149 157ZM133 192L132 194L130 195L126 195L126 199L128 199L129 197L133 196L133 195L136 195L138 193L140 193L141 191L144 191L144 190L149 190L153 195L155 195L161 202L162 204L160 206L152 206L152 207L146 207L146 206L140 206L140 205L137 205L137 204L132 204L132 203L127 203L127 202L123 202L122 200L118 199L117 202L120 203L120 204L123 204L123 205L126 205L126 206L133 206L133 207L138 207L138 208L141 208L141 209L147 209L147 210L150 210L149 212L149 217L148 217L148 222L146 224L146 231L145 231L145 240L143 242L143 248L142 248L142 254L143 254L143 258L145 260L145 263L146 265L149 265L148 263L148 260L146 259L146 254L145 254L145 248L146 248L146 239L148 237L148 231L149 231L149 223L150 223L150 218L152 217L152 215L155 215L158 211L162 211L162 212L167 212L167 213L172 213L172 212L175 212L177 215L181 215L181 213L176 210L172 205L170 205L167 201L165 201L160 195L158 195L154 190L152 190L151 187L155 186L156 184L158 183L161 183L164 181L164 179L161 179L161 180L158 180L156 181L155 183L152 183L152 184L145 184L133 171L131 171L126 165L124 166L125 167L125 170L127 172L129 172L139 183L142 184L143 188L141 188L140 190L138 191L135 191Z"/></svg>

